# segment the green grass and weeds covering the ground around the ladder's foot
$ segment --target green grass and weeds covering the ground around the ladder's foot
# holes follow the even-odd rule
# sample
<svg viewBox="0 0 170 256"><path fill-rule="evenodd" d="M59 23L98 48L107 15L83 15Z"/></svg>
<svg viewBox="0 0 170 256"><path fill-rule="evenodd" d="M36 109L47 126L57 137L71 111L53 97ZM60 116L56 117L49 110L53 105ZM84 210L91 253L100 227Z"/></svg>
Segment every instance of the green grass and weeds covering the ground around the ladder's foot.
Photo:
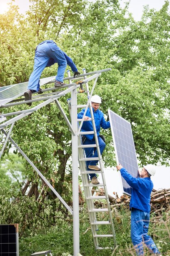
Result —
<svg viewBox="0 0 170 256"><path fill-rule="evenodd" d="M116 240L118 247L114 250L95 250L92 232L90 230L88 215L86 211L80 213L80 253L82 256L135 256L135 251L130 237L130 212L126 209L120 210L122 224L114 222ZM159 221L150 223L149 235L162 256L170 256L170 223ZM100 238L103 239L103 238ZM110 240L109 240L110 239ZM105 239L103 245L113 247L113 238ZM44 230L36 236L22 237L19 240L20 256L30 256L34 252L51 250L52 256L73 255L73 228L72 221L57 220L57 225L49 230ZM66 254L68 253L68 254ZM150 255L145 249L145 256Z"/></svg>

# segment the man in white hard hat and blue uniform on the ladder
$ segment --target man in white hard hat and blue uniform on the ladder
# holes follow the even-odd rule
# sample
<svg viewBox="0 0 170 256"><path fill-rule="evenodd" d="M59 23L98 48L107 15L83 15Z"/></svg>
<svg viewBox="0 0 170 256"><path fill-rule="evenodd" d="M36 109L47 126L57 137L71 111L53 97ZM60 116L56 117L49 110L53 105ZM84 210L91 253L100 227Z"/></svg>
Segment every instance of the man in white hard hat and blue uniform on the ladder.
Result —
<svg viewBox="0 0 170 256"><path fill-rule="evenodd" d="M100 148L100 154L102 155L104 149L105 149L105 138L104 136L100 135L100 127L103 129L110 128L110 121L106 121L104 118L104 114L102 111L99 110L100 104L102 103L101 98L98 95L94 95L91 97L91 103L93 108L93 115L94 115L94 121L96 125L96 132L98 136L98 144ZM85 112L85 108L81 110L80 113L78 113L78 119L82 119ZM90 108L87 109L86 115L84 120L86 122L83 122L81 131L87 132L87 131L93 131L93 125L92 121L87 121L89 118L91 118L90 114ZM87 134L82 136L82 142L83 145L88 144L96 144L95 137L93 134ZM86 157L98 157L98 153L96 148L84 148ZM87 170L91 171L100 171L100 168L97 166L98 160L94 161L87 161ZM97 179L97 176L95 173L89 174L92 184L99 184L99 181Z"/></svg>

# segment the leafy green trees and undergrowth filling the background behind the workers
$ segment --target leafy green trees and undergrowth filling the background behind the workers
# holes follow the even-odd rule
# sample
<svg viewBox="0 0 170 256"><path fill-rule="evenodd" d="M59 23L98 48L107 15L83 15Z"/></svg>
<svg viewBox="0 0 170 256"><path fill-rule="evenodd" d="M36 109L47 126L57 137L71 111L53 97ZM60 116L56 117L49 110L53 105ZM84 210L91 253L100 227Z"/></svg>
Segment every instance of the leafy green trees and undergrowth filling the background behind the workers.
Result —
<svg viewBox="0 0 170 256"><path fill-rule="evenodd" d="M84 67L87 72L111 67L110 72L99 77L94 91L102 97L101 110L106 118L110 108L131 122L139 162L167 164L170 152L169 2L165 1L160 11L145 7L139 22L128 14L128 4L121 9L118 0L30 2L27 16L20 15L13 4L7 13L0 15L0 86L28 81L36 45L52 39L74 60L79 71ZM56 72L57 64L46 68L41 78ZM69 117L66 98L59 101ZM78 104L85 101L85 95L78 95ZM27 106L1 108L0 112L24 109ZM114 166L111 131L101 133L107 141L103 162L105 166ZM63 199L72 201L71 133L56 104L51 103L17 121L11 137ZM10 147L7 144L6 153ZM20 223L21 256L44 247L52 249L57 256L65 252L72 254L71 218L33 168L20 159L17 155L12 158L6 155L0 166L4 186L0 190L1 223ZM23 184L17 178L18 170ZM13 180L16 180L15 187L8 190ZM115 223L120 246L115 255L128 256L132 255L129 213L122 210L122 216L122 226ZM85 212L81 221L81 253L98 255L90 231L85 233L89 227ZM167 252L169 245L168 228L169 224L163 222L150 229L152 234L159 230L159 238L155 239L162 252ZM108 256L112 252L100 252L100 255Z"/></svg>

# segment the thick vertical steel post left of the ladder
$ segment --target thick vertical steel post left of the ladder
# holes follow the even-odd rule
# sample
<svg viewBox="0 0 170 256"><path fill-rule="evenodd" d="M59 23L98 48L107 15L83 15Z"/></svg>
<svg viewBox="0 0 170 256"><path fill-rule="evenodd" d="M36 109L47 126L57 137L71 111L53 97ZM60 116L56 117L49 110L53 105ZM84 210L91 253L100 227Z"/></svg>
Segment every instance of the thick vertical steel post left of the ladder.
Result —
<svg viewBox="0 0 170 256"><path fill-rule="evenodd" d="M70 76L70 71L68 71ZM71 83L71 81L70 81ZM79 200L78 200L78 136L77 136L77 90L71 92L72 134L72 191L73 191L73 248L74 256L80 252L79 238Z"/></svg>

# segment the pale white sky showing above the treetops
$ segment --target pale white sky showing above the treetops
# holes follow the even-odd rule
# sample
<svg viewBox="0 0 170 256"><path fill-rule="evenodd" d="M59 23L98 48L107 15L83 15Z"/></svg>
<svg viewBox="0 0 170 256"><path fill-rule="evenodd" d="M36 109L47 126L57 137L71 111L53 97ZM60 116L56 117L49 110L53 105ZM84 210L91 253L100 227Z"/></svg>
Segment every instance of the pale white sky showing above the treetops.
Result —
<svg viewBox="0 0 170 256"><path fill-rule="evenodd" d="M121 7L124 7L126 0L119 0ZM11 0L0 0L0 13L7 10L7 3ZM135 20L140 20L144 6L148 5L150 9L154 8L157 11L161 9L165 0L131 0L129 5L129 12L133 13ZM29 0L15 0L15 4L19 6L20 13L25 13L29 9Z"/></svg>

